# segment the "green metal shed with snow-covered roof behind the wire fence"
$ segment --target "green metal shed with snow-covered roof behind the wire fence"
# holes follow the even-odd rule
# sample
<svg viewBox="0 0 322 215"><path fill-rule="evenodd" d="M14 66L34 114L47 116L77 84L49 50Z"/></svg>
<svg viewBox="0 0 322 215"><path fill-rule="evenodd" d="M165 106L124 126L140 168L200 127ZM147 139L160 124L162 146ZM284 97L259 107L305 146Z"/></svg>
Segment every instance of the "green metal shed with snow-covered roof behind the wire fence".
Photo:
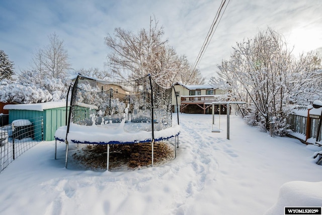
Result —
<svg viewBox="0 0 322 215"><path fill-rule="evenodd" d="M9 123L28 119L35 130L41 129L43 125L43 135L35 136L35 140L54 140L57 128L66 123L66 102L6 105L4 109L9 110Z"/></svg>

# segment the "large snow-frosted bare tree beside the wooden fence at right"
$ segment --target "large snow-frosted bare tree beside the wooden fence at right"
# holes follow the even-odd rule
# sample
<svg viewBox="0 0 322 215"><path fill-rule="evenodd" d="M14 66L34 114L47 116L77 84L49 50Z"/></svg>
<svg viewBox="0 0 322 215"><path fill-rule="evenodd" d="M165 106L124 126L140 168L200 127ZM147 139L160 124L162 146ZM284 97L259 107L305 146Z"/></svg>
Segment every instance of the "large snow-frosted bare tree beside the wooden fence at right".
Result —
<svg viewBox="0 0 322 215"><path fill-rule="evenodd" d="M297 60L282 35L270 28L233 49L230 60L218 66L219 77L211 81L229 89L234 99L248 99L255 107L253 120L267 130L272 119L285 119L290 104L303 100L312 89L321 89L316 85L320 57L307 54Z"/></svg>

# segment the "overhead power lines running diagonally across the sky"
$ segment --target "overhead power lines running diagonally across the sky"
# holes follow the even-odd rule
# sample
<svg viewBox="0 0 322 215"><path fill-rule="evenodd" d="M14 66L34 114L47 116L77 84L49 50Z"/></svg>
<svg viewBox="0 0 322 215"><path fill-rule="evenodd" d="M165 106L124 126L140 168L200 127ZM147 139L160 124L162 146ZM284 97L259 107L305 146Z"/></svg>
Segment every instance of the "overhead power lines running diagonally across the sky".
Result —
<svg viewBox="0 0 322 215"><path fill-rule="evenodd" d="M226 3L226 0L222 0L222 1L221 1L221 4L220 4L220 6L219 6L219 8L218 8L218 10L217 10L217 13L216 13L216 15L215 15L215 18L213 19L213 22L212 22L212 24L211 24L211 26L210 26L210 29L209 29L209 31L208 31L208 34L207 34L207 36L206 36L206 38L205 38L205 40L204 40L204 42L203 42L203 44L202 44L202 47L201 47L201 49L200 49L200 51L199 51L199 54L198 54L198 56L197 56L197 59L196 59L196 61L195 61L194 65L193 65L193 67L192 67L191 75L193 74L193 71L196 69L196 67L198 66L198 64L199 64L199 62L200 62L200 60L201 60L201 58L203 57L203 55L204 55L204 53L205 53L205 51L206 51L206 49L207 49L207 47L208 47L208 45L209 45L209 43L210 43L210 40L212 39L212 37L213 37L213 35L214 35L214 33L215 33L215 31L216 31L216 29L217 29L217 27L218 27L219 23L220 23L220 20L221 20L221 18L222 18L222 16L223 16L224 12L226 11L226 8L227 8L227 6L228 6L229 2L230 2L230 0L228 0L228 3L227 3L227 5L226 5L226 7L225 7L224 11L222 12L222 14L221 14L221 16L220 16L221 10L223 9L223 7L224 7L224 5L225 5L225 3ZM220 16L220 19L219 19L219 16ZM218 21L218 19L219 19L219 21ZM217 26L215 27L215 25L216 25L217 21L218 21L218 24L217 24ZM215 28L214 28L214 27L215 27ZM191 77L191 75L190 75L190 77Z"/></svg>

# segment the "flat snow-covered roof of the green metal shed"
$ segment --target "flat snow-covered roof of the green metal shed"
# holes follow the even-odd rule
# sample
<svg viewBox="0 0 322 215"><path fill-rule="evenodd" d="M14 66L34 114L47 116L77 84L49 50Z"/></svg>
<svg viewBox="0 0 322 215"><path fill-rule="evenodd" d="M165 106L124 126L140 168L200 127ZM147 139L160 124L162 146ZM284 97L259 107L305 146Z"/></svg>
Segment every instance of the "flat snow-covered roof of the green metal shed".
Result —
<svg viewBox="0 0 322 215"><path fill-rule="evenodd" d="M36 104L16 104L16 105L5 105L6 110L37 110L43 111L51 108L66 107L66 102L44 102Z"/></svg>

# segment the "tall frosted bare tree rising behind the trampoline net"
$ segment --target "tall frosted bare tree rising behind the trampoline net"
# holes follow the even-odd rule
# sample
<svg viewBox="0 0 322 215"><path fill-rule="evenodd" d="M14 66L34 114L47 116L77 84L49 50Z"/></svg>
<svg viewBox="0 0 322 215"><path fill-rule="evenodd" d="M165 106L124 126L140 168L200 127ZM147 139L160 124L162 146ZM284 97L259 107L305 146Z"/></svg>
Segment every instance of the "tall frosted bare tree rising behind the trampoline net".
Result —
<svg viewBox="0 0 322 215"><path fill-rule="evenodd" d="M112 49L108 55L112 77L119 80L135 80L151 75L159 85L169 87L189 75L191 67L185 56L178 56L175 49L163 40L163 27L150 19L149 29L138 34L115 29L115 37L108 36L105 43ZM194 73L194 82L202 82L200 73ZM186 80L186 79L184 79Z"/></svg>

